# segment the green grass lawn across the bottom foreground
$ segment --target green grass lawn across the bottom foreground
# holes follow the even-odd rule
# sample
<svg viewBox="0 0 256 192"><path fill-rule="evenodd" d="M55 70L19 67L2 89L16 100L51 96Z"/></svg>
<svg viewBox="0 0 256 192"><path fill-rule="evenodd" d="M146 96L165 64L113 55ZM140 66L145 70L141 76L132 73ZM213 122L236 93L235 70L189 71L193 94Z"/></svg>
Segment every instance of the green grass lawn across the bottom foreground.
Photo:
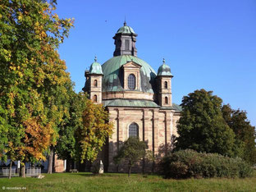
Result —
<svg viewBox="0 0 256 192"><path fill-rule="evenodd" d="M106 173L54 173L36 178L0 178L0 191L25 187L28 191L256 191L256 176L246 179L165 180L161 176ZM13 190L19 191L19 190Z"/></svg>

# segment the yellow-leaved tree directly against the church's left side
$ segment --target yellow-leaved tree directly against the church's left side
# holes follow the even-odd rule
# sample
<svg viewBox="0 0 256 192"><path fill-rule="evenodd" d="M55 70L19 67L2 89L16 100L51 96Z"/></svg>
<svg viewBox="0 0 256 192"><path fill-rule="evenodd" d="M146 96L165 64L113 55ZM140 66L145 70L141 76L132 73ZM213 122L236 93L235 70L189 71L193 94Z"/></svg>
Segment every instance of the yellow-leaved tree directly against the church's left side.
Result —
<svg viewBox="0 0 256 192"><path fill-rule="evenodd" d="M82 126L75 130L77 157L80 162L93 162L103 148L107 137L112 135L113 125L108 120L108 112L102 104L94 104L85 94L85 108L82 113Z"/></svg>

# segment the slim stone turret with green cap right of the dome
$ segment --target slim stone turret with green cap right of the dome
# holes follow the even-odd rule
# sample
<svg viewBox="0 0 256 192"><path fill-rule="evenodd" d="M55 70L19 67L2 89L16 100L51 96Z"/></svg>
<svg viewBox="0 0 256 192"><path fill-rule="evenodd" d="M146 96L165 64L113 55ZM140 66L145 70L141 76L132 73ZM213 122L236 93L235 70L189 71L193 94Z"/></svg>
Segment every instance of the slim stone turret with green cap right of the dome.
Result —
<svg viewBox="0 0 256 192"><path fill-rule="evenodd" d="M171 107L171 68L167 66L165 60L162 61L162 66L158 68L158 104L161 107Z"/></svg>

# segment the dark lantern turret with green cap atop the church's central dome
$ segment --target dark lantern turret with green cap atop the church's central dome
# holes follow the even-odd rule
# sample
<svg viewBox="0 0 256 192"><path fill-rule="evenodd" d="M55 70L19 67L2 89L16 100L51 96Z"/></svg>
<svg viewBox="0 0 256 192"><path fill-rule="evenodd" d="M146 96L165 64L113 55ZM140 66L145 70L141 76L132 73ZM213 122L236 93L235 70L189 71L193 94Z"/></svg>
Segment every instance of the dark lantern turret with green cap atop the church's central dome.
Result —
<svg viewBox="0 0 256 192"><path fill-rule="evenodd" d="M116 49L113 54L114 57L121 55L131 55L136 57L136 36L137 34L135 34L135 31L130 26L127 26L125 21L124 26L117 30L117 34L113 37L116 45Z"/></svg>

